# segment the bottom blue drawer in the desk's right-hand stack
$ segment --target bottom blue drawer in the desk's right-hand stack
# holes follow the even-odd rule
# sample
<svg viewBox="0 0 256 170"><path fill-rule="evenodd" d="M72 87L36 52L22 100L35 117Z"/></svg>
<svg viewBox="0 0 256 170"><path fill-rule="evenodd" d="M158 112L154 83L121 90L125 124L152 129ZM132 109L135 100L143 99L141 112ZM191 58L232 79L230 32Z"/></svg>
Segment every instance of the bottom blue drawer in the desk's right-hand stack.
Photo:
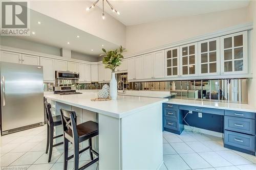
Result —
<svg viewBox="0 0 256 170"><path fill-rule="evenodd" d="M225 130L224 144L255 152L255 136Z"/></svg>

